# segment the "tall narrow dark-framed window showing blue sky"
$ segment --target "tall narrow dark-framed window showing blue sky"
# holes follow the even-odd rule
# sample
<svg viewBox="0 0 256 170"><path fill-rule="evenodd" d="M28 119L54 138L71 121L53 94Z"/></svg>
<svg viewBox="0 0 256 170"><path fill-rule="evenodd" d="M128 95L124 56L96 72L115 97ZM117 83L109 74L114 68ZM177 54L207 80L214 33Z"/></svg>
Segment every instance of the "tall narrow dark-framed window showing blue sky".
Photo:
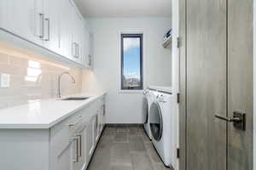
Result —
<svg viewBox="0 0 256 170"><path fill-rule="evenodd" d="M143 34L121 35L121 89L143 89Z"/></svg>

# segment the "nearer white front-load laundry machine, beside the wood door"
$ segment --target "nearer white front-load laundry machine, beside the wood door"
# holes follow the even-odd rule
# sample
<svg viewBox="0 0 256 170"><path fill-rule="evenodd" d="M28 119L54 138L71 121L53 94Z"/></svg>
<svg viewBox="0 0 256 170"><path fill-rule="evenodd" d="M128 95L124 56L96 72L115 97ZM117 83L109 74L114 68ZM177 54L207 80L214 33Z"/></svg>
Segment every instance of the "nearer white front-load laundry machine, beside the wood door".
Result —
<svg viewBox="0 0 256 170"><path fill-rule="evenodd" d="M149 127L152 142L167 167L178 169L177 99L170 92L155 92L149 109Z"/></svg>

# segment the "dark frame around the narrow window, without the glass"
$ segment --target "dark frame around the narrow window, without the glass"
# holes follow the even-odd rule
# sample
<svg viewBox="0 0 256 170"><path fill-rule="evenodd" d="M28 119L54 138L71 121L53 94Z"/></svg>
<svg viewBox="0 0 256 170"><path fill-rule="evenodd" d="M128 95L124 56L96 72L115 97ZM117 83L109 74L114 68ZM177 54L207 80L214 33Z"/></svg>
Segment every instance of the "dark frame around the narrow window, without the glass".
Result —
<svg viewBox="0 0 256 170"><path fill-rule="evenodd" d="M124 38L140 38L140 82L139 87L124 87ZM121 90L143 90L143 34L121 34Z"/></svg>

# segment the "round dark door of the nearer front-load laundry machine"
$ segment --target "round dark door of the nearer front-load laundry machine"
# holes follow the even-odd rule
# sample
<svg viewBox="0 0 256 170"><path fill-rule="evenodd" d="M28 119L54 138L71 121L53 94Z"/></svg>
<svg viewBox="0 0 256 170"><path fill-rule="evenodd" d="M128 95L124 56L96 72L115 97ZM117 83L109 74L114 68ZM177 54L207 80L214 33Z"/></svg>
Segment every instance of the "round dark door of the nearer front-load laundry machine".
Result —
<svg viewBox="0 0 256 170"><path fill-rule="evenodd" d="M149 110L150 131L156 141L160 141L163 133L163 119L160 106L157 102L152 103Z"/></svg>

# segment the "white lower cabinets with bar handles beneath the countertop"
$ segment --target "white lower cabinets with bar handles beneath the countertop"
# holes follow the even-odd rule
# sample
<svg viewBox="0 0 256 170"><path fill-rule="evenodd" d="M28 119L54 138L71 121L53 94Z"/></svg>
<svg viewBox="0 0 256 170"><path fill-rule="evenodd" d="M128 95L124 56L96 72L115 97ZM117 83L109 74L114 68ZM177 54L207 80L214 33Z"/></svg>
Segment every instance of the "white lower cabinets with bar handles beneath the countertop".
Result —
<svg viewBox="0 0 256 170"><path fill-rule="evenodd" d="M96 99L49 129L0 129L1 169L85 170L102 133L101 107Z"/></svg>

